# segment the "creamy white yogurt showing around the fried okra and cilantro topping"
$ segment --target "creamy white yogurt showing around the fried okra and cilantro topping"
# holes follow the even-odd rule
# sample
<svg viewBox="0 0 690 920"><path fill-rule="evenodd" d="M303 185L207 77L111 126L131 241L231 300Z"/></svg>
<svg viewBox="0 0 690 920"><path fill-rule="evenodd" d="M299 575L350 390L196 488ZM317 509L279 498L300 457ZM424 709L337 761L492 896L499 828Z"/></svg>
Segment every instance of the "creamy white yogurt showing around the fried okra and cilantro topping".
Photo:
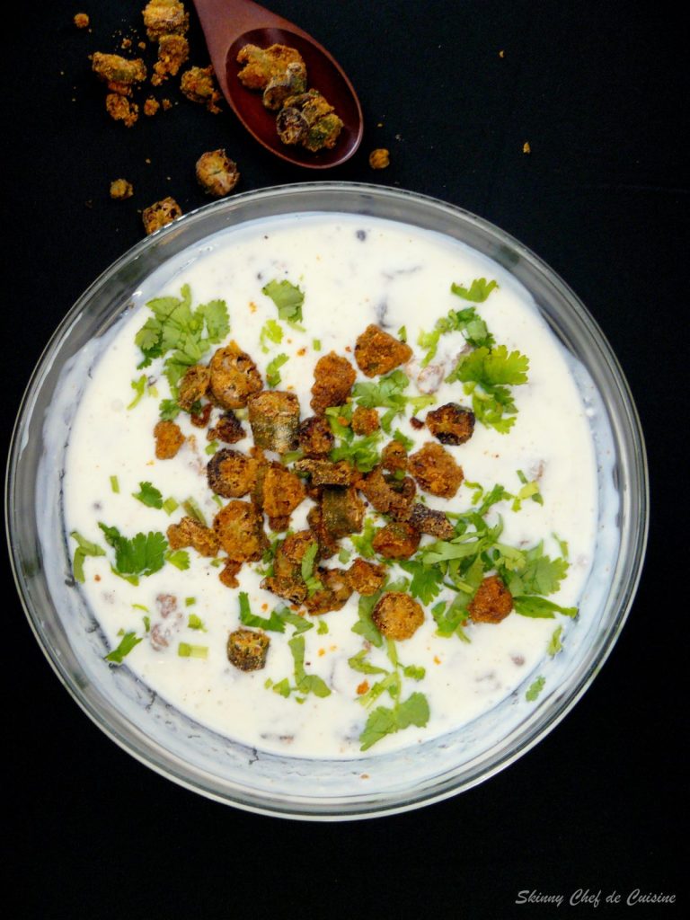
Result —
<svg viewBox="0 0 690 920"><path fill-rule="evenodd" d="M546 552L555 557L560 550L553 535L568 542L569 574L549 600L565 606L578 603L592 563L597 520L592 433L564 351L529 295L499 265L442 236L345 215L338 219L303 215L247 224L213 237L185 259L181 268L179 260L177 264L173 276L168 273L156 280L155 290L147 291L146 297L178 296L186 283L194 305L223 298L232 325L228 338L251 355L264 379L271 359L279 353L289 356L281 368L279 388L293 389L303 418L312 414L313 371L323 354L333 350L352 357L358 335L369 323L375 323L393 335L406 327L408 343L420 359L423 351L415 345L420 330L431 330L437 318L468 305L451 293L451 282L468 285L477 277L499 282L499 288L486 303L477 306L477 312L497 342L529 357L529 382L514 387L519 411L510 433L500 434L477 424L468 443L447 450L463 466L466 480L488 488L501 483L517 492L521 488L517 470L523 470L529 479L538 477L543 504L526 500L522 509L513 513L511 502L504 501L492 513L503 517L501 540L506 543L534 546L543 539ZM260 329L278 316L261 288L273 279L287 279L305 292L305 332L282 324L282 342L267 342L270 351L265 352ZM112 333L108 348L100 351L91 370L92 379L70 433L63 484L66 531L76 530L101 546L106 545L98 522L132 536L137 532L165 533L167 526L183 515L181 507L167 517L165 512L132 498L142 481L153 483L164 497L179 502L193 498L209 521L218 511L205 475L210 459L204 452L205 432L191 426L187 416L180 416L178 423L188 442L174 459L155 459L152 432L158 420L158 402L169 393L161 360L145 372L137 370L141 353L134 336L149 315L141 307L125 316ZM320 341L320 351L315 351L315 339ZM442 379L454 366L463 344L459 333L441 338L432 363L443 365ZM353 359L352 364L356 366ZM415 371L419 373L414 364L408 367L413 381ZM142 373L150 375L157 397L144 396L136 407L128 409L134 396L131 381ZM429 374L426 377L428 380ZM367 378L358 374L358 379ZM426 388L422 378L420 389ZM442 382L434 395L438 406L467 401L462 385L457 383ZM246 428L248 431L247 423ZM432 440L429 431L416 431L408 418L398 417L393 428L418 447ZM233 447L247 451L250 445L249 436ZM117 477L118 493L110 488L110 477ZM472 492L464 485L450 502L432 496L427 499L432 507L463 512L471 506ZM293 513L293 530L305 526L310 507L311 502L305 500ZM423 537L422 545L431 541L431 537ZM349 546L347 540L342 543ZM357 622L357 594L341 610L314 617L315 627L303 634L306 671L318 674L331 693L325 698L309 694L298 704L295 695L286 699L265 686L267 679L277 683L293 678L293 657L287 644L292 627L286 627L284 634L270 633L270 652L263 670L242 673L227 661L228 633L240 625L238 591L247 592L255 614L268 616L282 603L260 588L257 566L243 567L238 576L240 588L233 591L218 580L219 569L213 568L210 560L190 550L190 569L179 571L167 564L133 586L112 574L112 551L106 548L108 557L86 559L86 583L80 590L111 647L120 642L121 631L134 631L144 638L122 667L132 669L155 693L192 719L250 747L302 757L359 755L359 736L368 715L357 693L364 675L348 665L348 659L363 648L362 637L351 631ZM337 558L327 565L339 565ZM397 574L405 573L394 567L391 575ZM177 598L176 610L165 619L156 601L158 595ZM442 598L451 597L451 592L442 594ZM187 606L187 598L193 598L194 603ZM145 614L141 607L147 608ZM201 618L206 631L188 626L190 614ZM165 650L155 649L144 629L144 615L151 627L159 624L168 630ZM328 626L328 633L317 633L319 623ZM438 637L427 612L423 626L412 638L398 642L397 651L404 664L425 669L419 683L405 681L403 697L423 693L431 717L424 728L409 727L386 736L371 753L390 752L439 736L495 707L544 660L549 638L558 626L564 627L562 640L567 642L572 627L569 619L559 615L555 619L530 619L513 612L499 625L466 627L471 639L466 644L455 637ZM179 657L179 642L206 646L208 657ZM369 661L390 669L384 650L371 650ZM371 684L376 677L367 679ZM374 706L390 703L384 695Z"/></svg>

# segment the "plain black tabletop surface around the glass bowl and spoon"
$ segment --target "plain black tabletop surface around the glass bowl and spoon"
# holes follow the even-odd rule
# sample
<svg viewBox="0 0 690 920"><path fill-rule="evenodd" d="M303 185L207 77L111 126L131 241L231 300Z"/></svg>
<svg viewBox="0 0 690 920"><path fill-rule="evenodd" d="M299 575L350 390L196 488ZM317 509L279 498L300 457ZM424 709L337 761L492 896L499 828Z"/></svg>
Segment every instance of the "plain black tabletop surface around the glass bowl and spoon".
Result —
<svg viewBox="0 0 690 920"><path fill-rule="evenodd" d="M271 158L226 110L180 98L174 82L171 111L129 130L110 121L87 54L115 51L118 29L141 32L141 6L91 0L93 30L80 32L78 5L41 5L6 33L7 436L58 320L143 236L138 210L166 194L185 211L204 203L198 155L224 146L240 190L315 178ZM57 681L7 573L5 864L7 898L19 905L8 915L674 914L677 905L624 902L634 889L684 901L686 887L674 841L686 788L683 29L662 4L614 0L282 0L274 9L338 58L362 101L362 147L328 178L425 192L499 224L604 328L648 441L650 548L638 598L592 688L500 776L420 811L319 825L201 799L123 753ZM192 63L207 63L196 24L191 40ZM367 155L378 146L391 166L374 172ZM134 184L130 201L109 201L119 176ZM602 901L617 891L622 902L569 906L579 889ZM518 906L519 891L566 903Z"/></svg>

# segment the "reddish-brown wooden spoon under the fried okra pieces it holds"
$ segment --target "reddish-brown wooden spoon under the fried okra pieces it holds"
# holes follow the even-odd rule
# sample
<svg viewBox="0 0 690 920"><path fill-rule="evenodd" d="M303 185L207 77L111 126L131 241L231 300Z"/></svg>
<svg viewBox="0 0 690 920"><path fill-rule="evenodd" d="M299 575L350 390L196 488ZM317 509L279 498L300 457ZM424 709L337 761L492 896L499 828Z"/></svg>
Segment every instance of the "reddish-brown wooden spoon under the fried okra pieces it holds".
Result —
<svg viewBox="0 0 690 920"><path fill-rule="evenodd" d="M328 169L350 159L362 140L363 118L357 94L333 57L292 22L276 16L252 0L194 0L218 85L247 131L271 153L310 169ZM276 112L266 109L261 93L247 89L237 78L237 52L247 44L296 48L306 64L307 86L317 89L336 110L343 128L332 150L312 153L283 144L276 132Z"/></svg>

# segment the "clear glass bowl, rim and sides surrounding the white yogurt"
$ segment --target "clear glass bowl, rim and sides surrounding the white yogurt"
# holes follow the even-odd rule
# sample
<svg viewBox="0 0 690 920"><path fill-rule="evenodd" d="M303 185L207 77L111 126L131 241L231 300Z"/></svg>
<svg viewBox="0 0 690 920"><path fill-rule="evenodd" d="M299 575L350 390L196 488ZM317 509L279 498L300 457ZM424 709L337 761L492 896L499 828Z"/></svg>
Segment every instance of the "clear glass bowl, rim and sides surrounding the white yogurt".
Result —
<svg viewBox="0 0 690 920"><path fill-rule="evenodd" d="M108 650L71 577L62 515L67 436L80 388L77 356L102 343L141 285L216 231L290 213L383 217L458 239L494 259L532 295L571 356L592 418L598 469L597 546L567 653L540 665L536 704L514 692L488 713L414 749L356 759L257 752L204 728L156 696ZM184 258L184 257L183 257ZM65 374L70 386L65 390ZM74 378L74 379L73 379ZM60 385L58 385L60 382ZM52 426L54 430L54 424ZM635 595L647 539L648 478L638 415L615 355L569 287L517 240L457 207L404 190L316 182L247 192L206 205L125 253L72 307L38 362L9 455L6 521L17 589L54 671L98 727L163 776L248 811L347 820L406 811L475 786L528 751L577 702L612 650ZM366 782L362 782L362 776Z"/></svg>

